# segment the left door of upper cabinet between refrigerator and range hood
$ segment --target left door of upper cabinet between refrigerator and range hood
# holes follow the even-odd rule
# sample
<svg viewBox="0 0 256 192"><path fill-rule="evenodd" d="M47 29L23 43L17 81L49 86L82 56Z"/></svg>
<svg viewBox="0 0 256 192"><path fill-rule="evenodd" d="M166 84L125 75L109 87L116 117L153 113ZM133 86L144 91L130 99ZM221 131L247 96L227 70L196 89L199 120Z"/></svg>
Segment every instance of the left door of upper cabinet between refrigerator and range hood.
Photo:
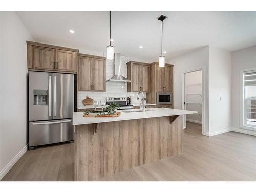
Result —
<svg viewBox="0 0 256 192"><path fill-rule="evenodd" d="M91 66L92 59L89 57L79 57L77 70L78 91L91 91Z"/></svg>

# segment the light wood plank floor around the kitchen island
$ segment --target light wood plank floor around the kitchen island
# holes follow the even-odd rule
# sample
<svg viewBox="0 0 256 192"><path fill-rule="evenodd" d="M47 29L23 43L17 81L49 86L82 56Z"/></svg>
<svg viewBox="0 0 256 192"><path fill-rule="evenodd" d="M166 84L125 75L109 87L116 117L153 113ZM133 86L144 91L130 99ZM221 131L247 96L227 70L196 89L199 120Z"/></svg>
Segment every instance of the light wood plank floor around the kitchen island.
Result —
<svg viewBox="0 0 256 192"><path fill-rule="evenodd" d="M28 151L3 181L73 181L73 144ZM139 166L102 181L256 181L256 137L236 132L206 137L187 123L184 153Z"/></svg>

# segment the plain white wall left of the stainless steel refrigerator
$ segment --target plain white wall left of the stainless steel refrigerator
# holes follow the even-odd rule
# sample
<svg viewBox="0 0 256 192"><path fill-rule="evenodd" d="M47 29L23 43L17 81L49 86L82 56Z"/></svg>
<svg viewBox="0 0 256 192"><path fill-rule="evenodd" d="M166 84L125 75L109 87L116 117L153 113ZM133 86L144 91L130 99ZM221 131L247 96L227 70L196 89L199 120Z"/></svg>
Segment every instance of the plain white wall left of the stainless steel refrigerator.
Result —
<svg viewBox="0 0 256 192"><path fill-rule="evenodd" d="M0 12L0 25L0 179L2 179L15 160L27 150L26 40L33 39L15 12Z"/></svg>

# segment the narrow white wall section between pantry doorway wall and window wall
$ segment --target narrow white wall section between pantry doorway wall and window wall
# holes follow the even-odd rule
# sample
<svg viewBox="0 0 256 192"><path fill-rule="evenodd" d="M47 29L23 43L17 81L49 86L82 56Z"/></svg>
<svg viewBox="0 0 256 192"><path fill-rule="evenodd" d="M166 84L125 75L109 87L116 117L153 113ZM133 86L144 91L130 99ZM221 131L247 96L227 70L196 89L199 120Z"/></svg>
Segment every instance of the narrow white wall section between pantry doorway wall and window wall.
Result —
<svg viewBox="0 0 256 192"><path fill-rule="evenodd" d="M231 130L231 53L209 47L209 130Z"/></svg>

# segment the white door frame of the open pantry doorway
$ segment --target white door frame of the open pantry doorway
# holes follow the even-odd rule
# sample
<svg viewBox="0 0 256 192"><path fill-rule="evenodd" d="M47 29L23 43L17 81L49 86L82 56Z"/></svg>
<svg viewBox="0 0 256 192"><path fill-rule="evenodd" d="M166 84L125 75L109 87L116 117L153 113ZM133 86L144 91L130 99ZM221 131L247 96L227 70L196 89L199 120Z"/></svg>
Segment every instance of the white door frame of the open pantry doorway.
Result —
<svg viewBox="0 0 256 192"><path fill-rule="evenodd" d="M189 71L183 71L181 72L181 108L185 109L185 74L195 71L201 71L202 70L202 93L203 93L203 104L202 104L202 134L205 133L205 72L204 67L189 70ZM183 128L186 125L186 115L183 115Z"/></svg>

